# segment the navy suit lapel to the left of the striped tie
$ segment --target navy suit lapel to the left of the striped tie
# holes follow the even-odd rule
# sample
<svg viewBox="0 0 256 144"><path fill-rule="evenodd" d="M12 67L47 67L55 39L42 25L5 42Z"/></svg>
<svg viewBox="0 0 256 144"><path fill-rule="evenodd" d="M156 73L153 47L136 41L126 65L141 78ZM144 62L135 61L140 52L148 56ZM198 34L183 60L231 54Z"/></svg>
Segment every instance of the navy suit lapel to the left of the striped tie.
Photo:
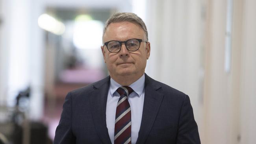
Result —
<svg viewBox="0 0 256 144"><path fill-rule="evenodd" d="M91 96L91 112L96 131L104 144L111 144L111 140L108 135L108 128L106 125L106 104L108 98L109 79L103 79L102 81L93 85Z"/></svg>

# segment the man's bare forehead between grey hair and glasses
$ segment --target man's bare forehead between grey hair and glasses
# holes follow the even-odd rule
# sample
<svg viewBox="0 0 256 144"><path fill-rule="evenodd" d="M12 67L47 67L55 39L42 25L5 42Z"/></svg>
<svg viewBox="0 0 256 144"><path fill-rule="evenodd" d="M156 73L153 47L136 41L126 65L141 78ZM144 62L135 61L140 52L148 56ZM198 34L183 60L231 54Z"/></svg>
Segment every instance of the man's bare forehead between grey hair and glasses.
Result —
<svg viewBox="0 0 256 144"><path fill-rule="evenodd" d="M145 39L145 33L138 24L115 22L108 25L103 36L103 41L125 41L132 38Z"/></svg>

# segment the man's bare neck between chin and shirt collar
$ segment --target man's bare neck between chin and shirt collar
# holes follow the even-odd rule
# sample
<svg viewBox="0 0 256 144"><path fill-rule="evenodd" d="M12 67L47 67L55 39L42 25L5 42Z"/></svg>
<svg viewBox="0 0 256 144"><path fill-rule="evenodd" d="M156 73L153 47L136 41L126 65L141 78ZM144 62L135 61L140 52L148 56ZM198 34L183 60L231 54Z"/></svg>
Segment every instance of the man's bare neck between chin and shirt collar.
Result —
<svg viewBox="0 0 256 144"><path fill-rule="evenodd" d="M144 73L143 73L144 74ZM114 79L117 83L119 83L122 86L129 86L132 83L134 83L135 81L137 81L139 78L141 78L141 76L143 76L143 74L141 75L126 75L126 76L111 76L110 77L112 79Z"/></svg>

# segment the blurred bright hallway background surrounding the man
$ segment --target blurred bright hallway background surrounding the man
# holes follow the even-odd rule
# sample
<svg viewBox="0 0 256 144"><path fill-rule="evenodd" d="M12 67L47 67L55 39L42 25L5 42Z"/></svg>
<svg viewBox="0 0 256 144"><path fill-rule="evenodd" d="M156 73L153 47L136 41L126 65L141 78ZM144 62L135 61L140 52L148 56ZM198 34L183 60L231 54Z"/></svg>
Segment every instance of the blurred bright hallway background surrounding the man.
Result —
<svg viewBox="0 0 256 144"><path fill-rule="evenodd" d="M108 75L101 28L114 12L143 18L146 73L189 95L202 144L255 143L255 0L0 0L0 124L30 87L24 122L53 138L67 92Z"/></svg>

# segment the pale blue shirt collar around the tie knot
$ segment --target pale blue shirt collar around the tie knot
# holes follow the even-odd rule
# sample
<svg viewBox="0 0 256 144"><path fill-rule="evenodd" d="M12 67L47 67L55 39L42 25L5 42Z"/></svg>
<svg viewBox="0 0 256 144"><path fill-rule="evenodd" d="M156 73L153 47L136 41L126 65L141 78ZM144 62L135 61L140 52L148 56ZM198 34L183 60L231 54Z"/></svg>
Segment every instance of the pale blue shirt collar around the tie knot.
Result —
<svg viewBox="0 0 256 144"><path fill-rule="evenodd" d="M129 85L129 87L131 87L134 90L134 92L136 93L136 96L138 97L141 96L144 90L144 86L145 86L145 74L143 74L143 76L141 76L141 78L139 78L137 81ZM119 96L119 94L116 92L116 90L119 87L122 87L122 85L117 83L114 79L110 78L109 91L112 97Z"/></svg>

